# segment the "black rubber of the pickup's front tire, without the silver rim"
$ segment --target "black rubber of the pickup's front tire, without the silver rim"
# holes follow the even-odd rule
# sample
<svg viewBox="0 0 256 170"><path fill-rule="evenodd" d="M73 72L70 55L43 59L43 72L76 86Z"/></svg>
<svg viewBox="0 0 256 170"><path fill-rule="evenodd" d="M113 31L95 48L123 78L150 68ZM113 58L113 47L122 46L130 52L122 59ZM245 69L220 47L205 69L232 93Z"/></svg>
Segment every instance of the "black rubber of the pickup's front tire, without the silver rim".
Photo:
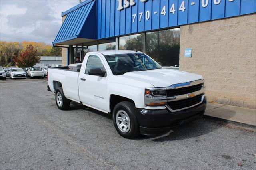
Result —
<svg viewBox="0 0 256 170"><path fill-rule="evenodd" d="M116 123L116 114L118 113L118 111L125 111L130 119L130 130L128 132L121 131L120 128L118 127L118 124ZM139 129L138 121L135 114L136 114L135 105L134 103L131 103L129 101L122 101L114 107L112 119L113 119L114 127L116 128L116 131L120 134L120 136L128 139L132 139L140 135L140 129Z"/></svg>

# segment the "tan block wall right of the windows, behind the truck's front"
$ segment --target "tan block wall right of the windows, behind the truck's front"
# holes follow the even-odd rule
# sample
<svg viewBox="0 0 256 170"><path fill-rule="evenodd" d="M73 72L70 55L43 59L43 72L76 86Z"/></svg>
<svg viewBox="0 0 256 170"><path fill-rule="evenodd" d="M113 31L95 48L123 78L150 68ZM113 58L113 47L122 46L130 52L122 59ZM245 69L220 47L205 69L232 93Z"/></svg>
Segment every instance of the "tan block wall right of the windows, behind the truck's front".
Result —
<svg viewBox="0 0 256 170"><path fill-rule="evenodd" d="M205 77L209 102L255 109L256 14L181 26L180 70Z"/></svg>

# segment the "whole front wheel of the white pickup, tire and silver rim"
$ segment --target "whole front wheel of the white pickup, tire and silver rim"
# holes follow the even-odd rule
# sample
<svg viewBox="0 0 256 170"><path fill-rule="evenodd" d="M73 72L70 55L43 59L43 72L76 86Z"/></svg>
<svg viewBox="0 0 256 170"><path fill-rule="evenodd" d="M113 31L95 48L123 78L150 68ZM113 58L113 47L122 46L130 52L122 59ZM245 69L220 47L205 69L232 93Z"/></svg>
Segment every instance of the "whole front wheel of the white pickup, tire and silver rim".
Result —
<svg viewBox="0 0 256 170"><path fill-rule="evenodd" d="M114 107L113 123L117 132L124 138L136 138L140 134L135 113L135 105L129 101L122 101Z"/></svg>

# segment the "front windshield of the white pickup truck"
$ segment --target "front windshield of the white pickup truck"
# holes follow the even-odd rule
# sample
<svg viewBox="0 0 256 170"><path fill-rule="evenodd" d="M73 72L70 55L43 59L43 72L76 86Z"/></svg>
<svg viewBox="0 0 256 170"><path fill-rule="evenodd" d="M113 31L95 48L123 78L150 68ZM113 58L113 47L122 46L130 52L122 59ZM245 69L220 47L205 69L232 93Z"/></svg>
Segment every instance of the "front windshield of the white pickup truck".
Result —
<svg viewBox="0 0 256 170"><path fill-rule="evenodd" d="M143 53L105 55L105 58L114 75L161 68L156 61Z"/></svg>

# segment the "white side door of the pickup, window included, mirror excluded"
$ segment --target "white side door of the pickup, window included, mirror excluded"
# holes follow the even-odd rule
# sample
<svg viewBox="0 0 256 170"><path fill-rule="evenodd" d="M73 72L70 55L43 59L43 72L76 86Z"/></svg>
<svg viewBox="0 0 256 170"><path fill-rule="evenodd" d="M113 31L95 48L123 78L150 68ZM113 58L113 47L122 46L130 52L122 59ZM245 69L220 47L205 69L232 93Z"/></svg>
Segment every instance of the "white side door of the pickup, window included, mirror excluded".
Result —
<svg viewBox="0 0 256 170"><path fill-rule="evenodd" d="M106 111L107 73L104 77L88 74L92 68L106 71L102 58L96 54L90 55L84 62L86 62L86 67L82 68L78 77L80 101L85 105Z"/></svg>

